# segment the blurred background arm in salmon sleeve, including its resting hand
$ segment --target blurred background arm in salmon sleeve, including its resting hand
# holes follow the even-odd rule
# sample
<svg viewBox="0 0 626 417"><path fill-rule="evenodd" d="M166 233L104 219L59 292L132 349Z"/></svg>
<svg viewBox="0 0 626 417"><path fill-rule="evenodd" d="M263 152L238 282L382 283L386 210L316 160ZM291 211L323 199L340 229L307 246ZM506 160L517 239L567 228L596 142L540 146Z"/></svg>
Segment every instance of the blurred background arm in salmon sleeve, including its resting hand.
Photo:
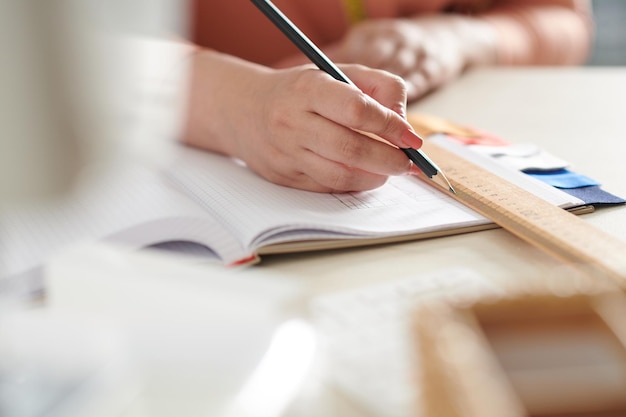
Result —
<svg viewBox="0 0 626 417"><path fill-rule="evenodd" d="M382 0L368 4L377 2ZM400 17L363 21L325 51L337 62L401 76L413 100L473 66L578 64L591 47L588 0L475 0L462 7L449 2L445 13L418 13L425 3L398 0L394 10Z"/></svg>

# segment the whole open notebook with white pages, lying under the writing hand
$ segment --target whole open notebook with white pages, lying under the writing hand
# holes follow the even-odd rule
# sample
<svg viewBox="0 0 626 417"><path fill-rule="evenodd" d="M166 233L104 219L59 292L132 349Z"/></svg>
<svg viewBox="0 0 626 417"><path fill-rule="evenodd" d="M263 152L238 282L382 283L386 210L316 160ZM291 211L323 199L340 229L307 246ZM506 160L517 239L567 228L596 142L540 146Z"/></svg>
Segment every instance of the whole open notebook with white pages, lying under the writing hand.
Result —
<svg viewBox="0 0 626 417"><path fill-rule="evenodd" d="M461 145L434 138L551 203L581 200ZM0 271L36 268L59 248L104 240L132 248L194 242L225 264L259 254L420 239L496 227L412 176L367 192L321 194L269 183L238 161L176 147L171 164L124 163L56 204L19 210L0 224ZM180 245L180 247L185 247Z"/></svg>

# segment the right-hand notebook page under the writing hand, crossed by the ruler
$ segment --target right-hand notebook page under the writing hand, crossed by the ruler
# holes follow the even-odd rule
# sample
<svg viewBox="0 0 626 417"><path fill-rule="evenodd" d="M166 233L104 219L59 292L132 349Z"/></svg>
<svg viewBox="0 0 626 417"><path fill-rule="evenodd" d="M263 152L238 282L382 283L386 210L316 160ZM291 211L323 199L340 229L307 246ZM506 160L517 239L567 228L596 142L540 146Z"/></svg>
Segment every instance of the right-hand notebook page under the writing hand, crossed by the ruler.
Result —
<svg viewBox="0 0 626 417"><path fill-rule="evenodd" d="M410 176L392 177L367 192L313 193L271 184L230 158L191 149L183 150L169 175L251 251L297 239L386 237L489 223ZM519 172L507 179L556 205L582 204Z"/></svg>

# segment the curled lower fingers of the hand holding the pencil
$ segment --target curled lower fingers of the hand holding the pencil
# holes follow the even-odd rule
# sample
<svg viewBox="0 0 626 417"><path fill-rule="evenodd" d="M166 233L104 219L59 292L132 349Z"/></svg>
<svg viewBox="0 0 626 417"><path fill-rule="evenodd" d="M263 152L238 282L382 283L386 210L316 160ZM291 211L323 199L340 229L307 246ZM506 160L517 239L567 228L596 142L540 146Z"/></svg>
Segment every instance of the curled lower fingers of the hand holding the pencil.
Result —
<svg viewBox="0 0 626 417"><path fill-rule="evenodd" d="M410 171L401 150L320 115L309 113L299 125L276 146L266 142L248 155L249 167L274 183L319 192L373 189Z"/></svg>

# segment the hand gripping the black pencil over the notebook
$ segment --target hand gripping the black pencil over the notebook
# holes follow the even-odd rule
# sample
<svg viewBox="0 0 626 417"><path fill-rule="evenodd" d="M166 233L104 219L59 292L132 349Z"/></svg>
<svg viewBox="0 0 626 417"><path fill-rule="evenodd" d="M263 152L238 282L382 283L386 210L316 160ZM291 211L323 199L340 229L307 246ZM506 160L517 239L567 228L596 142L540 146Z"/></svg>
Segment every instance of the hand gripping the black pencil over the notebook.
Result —
<svg viewBox="0 0 626 417"><path fill-rule="evenodd" d="M311 191L367 190L409 172L406 155L389 144L421 146L404 119L403 81L357 65L342 69L362 91L311 66L274 70L199 53L187 141L240 158L272 182Z"/></svg>

